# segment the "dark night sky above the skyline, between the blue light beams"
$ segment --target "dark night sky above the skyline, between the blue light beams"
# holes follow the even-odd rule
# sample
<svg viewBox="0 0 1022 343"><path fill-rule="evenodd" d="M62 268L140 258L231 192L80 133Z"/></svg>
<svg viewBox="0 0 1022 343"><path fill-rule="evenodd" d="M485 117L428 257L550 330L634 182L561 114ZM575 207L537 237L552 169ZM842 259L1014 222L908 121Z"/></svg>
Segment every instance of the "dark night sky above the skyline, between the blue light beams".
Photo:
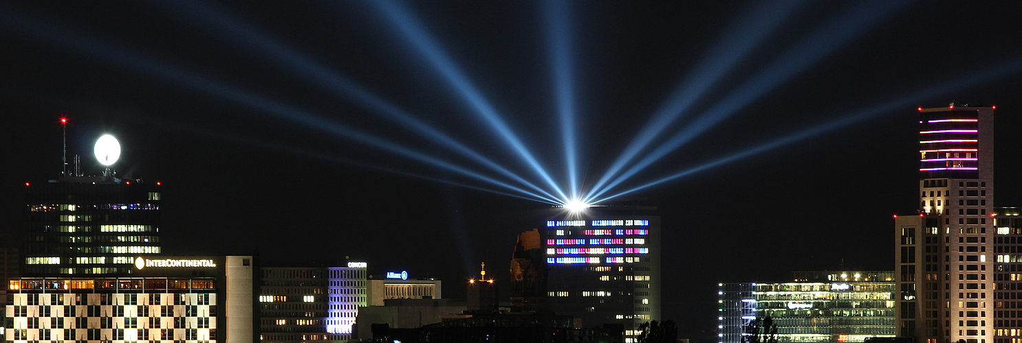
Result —
<svg viewBox="0 0 1022 343"><path fill-rule="evenodd" d="M572 4L571 71L586 184L754 4ZM815 28L845 5L798 5L668 132L818 34ZM800 71L637 175L633 185L1018 63L1022 12L1003 5L907 4L817 62L783 64ZM541 183L370 3L216 7ZM412 8L563 181L543 7L458 1ZM175 70L186 70L475 166L304 78L265 46L244 43L228 30L232 23L201 17L192 7L153 2L0 5L0 229L20 230L25 182L57 176L63 113L71 120L68 153L83 155L87 173L98 170L92 143L110 133L124 147L119 173L162 182L169 253L258 247L275 264L338 263L351 256L369 261L374 273L442 278L448 297L462 296L460 280L479 261L506 280L515 235L538 228L551 214L549 205L367 167L484 186L227 100L202 81L174 81L182 75ZM140 58L176 69L131 65ZM914 97L879 115L634 194L659 206L663 217L664 317L683 322L683 337L704 337L715 323L717 282L786 279L791 271L836 270L842 260L848 268L890 270L891 214L916 209L917 106L996 105L995 201L1022 205L1022 179L1012 177L1022 172L1019 71Z"/></svg>

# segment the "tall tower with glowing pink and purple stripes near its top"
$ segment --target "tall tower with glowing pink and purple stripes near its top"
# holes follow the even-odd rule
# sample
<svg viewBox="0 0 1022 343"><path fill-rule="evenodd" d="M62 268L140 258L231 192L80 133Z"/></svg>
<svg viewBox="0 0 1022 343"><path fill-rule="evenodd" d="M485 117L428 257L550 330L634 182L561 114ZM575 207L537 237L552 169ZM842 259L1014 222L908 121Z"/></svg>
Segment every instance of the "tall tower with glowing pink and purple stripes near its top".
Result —
<svg viewBox="0 0 1022 343"><path fill-rule="evenodd" d="M919 114L919 213L894 220L897 335L925 343L1018 342L1019 332L995 331L994 272L1006 264L994 258L993 107Z"/></svg>

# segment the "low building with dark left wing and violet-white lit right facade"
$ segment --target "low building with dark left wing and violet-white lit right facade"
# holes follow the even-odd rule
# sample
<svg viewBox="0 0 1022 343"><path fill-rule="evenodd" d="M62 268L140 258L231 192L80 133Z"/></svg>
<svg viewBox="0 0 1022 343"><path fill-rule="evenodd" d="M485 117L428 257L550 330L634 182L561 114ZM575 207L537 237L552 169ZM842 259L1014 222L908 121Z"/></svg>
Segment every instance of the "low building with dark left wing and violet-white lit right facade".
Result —
<svg viewBox="0 0 1022 343"><path fill-rule="evenodd" d="M366 305L366 263L350 267L263 267L264 343L341 342Z"/></svg>

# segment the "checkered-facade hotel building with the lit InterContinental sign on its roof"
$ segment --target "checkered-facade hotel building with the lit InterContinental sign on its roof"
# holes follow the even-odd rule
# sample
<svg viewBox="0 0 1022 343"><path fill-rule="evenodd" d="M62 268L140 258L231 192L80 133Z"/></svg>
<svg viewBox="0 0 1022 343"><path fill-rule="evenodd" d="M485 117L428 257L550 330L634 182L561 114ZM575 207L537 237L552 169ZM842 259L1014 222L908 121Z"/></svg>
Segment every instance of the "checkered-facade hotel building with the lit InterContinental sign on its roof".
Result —
<svg viewBox="0 0 1022 343"><path fill-rule="evenodd" d="M9 281L6 342L254 342L252 256L138 259L131 277Z"/></svg>

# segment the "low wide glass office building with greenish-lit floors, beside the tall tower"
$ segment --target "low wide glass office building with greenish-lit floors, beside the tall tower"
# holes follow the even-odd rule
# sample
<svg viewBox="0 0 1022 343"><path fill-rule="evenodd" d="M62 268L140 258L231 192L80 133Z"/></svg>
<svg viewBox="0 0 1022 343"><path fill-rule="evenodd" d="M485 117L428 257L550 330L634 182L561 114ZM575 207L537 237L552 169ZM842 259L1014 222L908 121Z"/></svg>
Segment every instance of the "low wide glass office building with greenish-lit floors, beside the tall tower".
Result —
<svg viewBox="0 0 1022 343"><path fill-rule="evenodd" d="M863 342L894 337L893 272L799 272L795 282L718 284L719 343L743 343L771 317L778 342Z"/></svg>

